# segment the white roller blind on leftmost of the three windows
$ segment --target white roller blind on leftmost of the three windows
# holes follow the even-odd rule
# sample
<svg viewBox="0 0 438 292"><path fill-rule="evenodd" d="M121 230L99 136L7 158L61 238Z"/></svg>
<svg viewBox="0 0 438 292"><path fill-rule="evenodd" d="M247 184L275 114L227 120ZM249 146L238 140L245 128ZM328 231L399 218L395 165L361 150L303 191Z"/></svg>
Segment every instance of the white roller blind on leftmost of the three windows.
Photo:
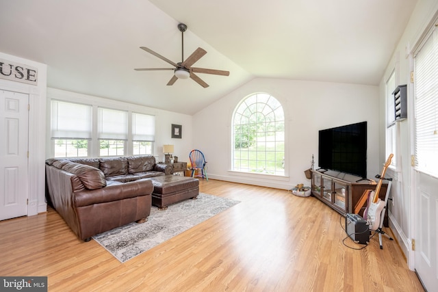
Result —
<svg viewBox="0 0 438 292"><path fill-rule="evenodd" d="M52 139L91 139L92 107L51 101Z"/></svg>

